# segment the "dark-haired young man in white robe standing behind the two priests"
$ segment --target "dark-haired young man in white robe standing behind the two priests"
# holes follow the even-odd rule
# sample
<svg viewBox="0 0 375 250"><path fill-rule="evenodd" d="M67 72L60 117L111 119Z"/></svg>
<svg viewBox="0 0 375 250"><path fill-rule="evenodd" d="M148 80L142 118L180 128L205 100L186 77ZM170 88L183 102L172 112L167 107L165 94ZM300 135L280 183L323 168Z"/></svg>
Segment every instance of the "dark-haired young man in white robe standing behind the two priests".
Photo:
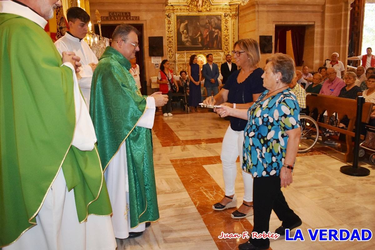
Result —
<svg viewBox="0 0 375 250"><path fill-rule="evenodd" d="M98 64L98 58L96 58L89 45L83 40L87 34L90 16L80 7L70 7L66 11L66 17L68 18L69 31L55 42L55 46L60 54L63 51L73 51L81 57L82 66L80 67L81 71L78 76L78 85L81 88L87 108L89 108L91 80Z"/></svg>

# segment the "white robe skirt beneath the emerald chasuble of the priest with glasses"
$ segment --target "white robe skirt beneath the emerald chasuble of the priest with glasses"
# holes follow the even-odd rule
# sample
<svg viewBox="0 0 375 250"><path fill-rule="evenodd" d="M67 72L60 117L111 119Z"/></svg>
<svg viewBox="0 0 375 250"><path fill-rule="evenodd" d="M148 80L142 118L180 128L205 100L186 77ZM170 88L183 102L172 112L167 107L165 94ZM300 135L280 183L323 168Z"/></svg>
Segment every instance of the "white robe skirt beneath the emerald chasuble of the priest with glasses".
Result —
<svg viewBox="0 0 375 250"><path fill-rule="evenodd" d="M104 172L108 194L112 205L112 223L115 237L125 239L129 232L142 232L145 223L130 228L129 182L127 177L126 145L121 145Z"/></svg>

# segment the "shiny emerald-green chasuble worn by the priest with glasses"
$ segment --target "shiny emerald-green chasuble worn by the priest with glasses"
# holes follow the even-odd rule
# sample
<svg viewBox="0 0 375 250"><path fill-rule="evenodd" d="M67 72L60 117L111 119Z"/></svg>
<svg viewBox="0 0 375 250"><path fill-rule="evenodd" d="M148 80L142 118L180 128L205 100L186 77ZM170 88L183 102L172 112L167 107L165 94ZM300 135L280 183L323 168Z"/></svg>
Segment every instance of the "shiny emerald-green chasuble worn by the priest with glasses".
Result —
<svg viewBox="0 0 375 250"><path fill-rule="evenodd" d="M157 208L151 129L136 126L146 109L129 72L130 62L107 47L93 75L90 115L98 138L102 167L107 168L123 143L126 144L129 180L130 227L159 219Z"/></svg>

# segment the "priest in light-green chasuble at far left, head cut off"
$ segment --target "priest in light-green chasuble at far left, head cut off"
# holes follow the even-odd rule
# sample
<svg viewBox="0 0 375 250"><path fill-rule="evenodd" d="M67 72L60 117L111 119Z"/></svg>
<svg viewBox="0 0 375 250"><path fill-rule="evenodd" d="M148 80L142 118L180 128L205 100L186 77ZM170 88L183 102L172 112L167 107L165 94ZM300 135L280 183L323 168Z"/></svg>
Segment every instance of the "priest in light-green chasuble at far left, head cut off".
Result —
<svg viewBox="0 0 375 250"><path fill-rule="evenodd" d="M0 248L115 249L80 58L44 31L60 0L0 1Z"/></svg>

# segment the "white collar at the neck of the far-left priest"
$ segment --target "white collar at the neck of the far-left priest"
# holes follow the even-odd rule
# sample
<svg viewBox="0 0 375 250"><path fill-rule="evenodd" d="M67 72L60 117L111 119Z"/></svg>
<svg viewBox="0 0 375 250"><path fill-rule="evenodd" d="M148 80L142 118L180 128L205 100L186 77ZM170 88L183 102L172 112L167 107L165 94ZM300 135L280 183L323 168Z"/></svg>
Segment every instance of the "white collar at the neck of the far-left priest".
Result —
<svg viewBox="0 0 375 250"><path fill-rule="evenodd" d="M21 4L15 3L10 0L0 1L0 13L8 13L23 16L24 18L27 18L30 21L35 22L43 29L47 24L47 21L44 18L42 18L42 16L33 12L28 7L22 6Z"/></svg>

